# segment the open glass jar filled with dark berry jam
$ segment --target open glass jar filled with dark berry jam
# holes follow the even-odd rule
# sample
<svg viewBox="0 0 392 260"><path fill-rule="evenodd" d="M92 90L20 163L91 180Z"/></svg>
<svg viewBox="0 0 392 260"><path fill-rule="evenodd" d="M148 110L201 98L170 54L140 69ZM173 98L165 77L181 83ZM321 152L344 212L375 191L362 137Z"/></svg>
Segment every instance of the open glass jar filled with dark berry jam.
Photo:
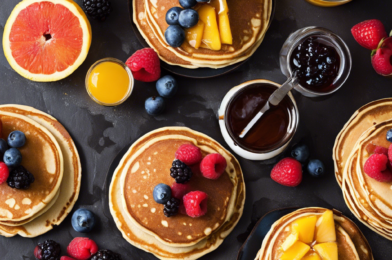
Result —
<svg viewBox="0 0 392 260"><path fill-rule="evenodd" d="M346 82L351 71L351 54L344 41L320 27L292 33L280 51L284 75L298 77L295 90L307 97L332 94Z"/></svg>

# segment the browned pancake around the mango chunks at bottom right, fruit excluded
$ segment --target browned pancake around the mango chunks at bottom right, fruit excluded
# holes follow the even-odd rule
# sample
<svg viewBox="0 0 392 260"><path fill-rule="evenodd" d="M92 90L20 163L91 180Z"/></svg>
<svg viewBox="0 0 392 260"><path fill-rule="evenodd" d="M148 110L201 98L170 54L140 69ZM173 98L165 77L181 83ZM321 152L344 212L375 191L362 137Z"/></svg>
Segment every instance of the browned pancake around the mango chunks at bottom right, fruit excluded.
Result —
<svg viewBox="0 0 392 260"><path fill-rule="evenodd" d="M302 217L320 217L325 211L323 208L303 208L276 221L265 236L255 259L280 259L281 245L291 234L291 223ZM372 260L371 248L359 228L337 211L334 211L334 220L339 260Z"/></svg>

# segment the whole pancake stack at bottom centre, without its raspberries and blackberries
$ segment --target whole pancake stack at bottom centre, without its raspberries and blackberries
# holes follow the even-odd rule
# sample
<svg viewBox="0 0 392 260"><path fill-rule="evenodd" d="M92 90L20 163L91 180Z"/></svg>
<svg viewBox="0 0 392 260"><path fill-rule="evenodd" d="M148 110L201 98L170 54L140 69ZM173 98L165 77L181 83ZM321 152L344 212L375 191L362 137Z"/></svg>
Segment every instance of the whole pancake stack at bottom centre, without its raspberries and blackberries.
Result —
<svg viewBox="0 0 392 260"><path fill-rule="evenodd" d="M199 147L203 156L219 153L226 172L209 180L193 171L192 190L208 194L207 214L165 217L152 196L159 183L171 185L170 167L183 144ZM137 140L114 172L109 191L111 214L123 237L159 259L197 259L215 250L239 221L245 185L238 161L210 137L185 127L161 128Z"/></svg>

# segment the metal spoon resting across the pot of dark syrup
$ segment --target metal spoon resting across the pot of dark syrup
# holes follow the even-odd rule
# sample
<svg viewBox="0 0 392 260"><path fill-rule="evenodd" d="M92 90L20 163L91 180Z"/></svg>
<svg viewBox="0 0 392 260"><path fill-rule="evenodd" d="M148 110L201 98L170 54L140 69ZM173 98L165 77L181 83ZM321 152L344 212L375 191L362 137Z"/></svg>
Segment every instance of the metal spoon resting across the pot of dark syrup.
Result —
<svg viewBox="0 0 392 260"><path fill-rule="evenodd" d="M283 100L283 98L298 84L297 71L293 73L293 76L289 77L283 85L275 90L272 95L268 98L267 103L260 109L256 116L247 124L242 130L240 138L244 138L245 135L252 129L252 127L259 121L259 119L271 108L271 106L277 106Z"/></svg>

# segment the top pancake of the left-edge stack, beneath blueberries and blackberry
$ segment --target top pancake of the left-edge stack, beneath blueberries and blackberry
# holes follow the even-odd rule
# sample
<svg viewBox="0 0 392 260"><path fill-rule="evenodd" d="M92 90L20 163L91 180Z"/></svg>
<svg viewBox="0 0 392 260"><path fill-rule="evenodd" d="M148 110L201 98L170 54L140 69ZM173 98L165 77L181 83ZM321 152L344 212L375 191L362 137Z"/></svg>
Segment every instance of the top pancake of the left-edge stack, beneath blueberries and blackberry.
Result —
<svg viewBox="0 0 392 260"><path fill-rule="evenodd" d="M51 202L63 178L63 155L53 135L35 121L15 113L0 111L3 135L20 130L26 144L19 148L22 165L35 181L28 189L13 189L5 182L0 185L0 221L28 219Z"/></svg>

